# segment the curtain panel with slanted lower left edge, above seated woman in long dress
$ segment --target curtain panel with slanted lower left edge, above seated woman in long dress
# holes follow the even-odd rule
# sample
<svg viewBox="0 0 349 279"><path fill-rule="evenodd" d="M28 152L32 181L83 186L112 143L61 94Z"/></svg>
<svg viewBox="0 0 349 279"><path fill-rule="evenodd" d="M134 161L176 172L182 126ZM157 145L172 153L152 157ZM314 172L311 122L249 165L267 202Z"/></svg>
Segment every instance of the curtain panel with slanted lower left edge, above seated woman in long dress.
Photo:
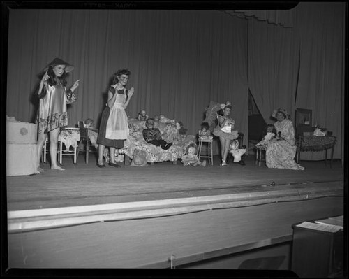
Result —
<svg viewBox="0 0 349 279"><path fill-rule="evenodd" d="M276 108L292 117L295 104L299 45L295 29L248 20L248 83L265 122Z"/></svg>

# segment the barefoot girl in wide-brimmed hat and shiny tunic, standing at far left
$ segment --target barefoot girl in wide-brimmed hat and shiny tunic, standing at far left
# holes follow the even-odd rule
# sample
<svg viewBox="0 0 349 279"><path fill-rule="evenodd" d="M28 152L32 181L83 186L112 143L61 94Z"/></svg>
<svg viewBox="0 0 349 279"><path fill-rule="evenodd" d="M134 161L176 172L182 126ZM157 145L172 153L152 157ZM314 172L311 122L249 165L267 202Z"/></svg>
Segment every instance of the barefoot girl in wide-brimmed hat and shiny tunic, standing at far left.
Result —
<svg viewBox="0 0 349 279"><path fill-rule="evenodd" d="M74 66L55 58L47 67L40 81L38 97L38 171L40 167L40 155L43 145L50 134L51 169L64 171L57 165L57 142L62 127L68 125L66 105L76 101L74 90L79 86L79 80L68 89L66 87L66 73L73 71Z"/></svg>

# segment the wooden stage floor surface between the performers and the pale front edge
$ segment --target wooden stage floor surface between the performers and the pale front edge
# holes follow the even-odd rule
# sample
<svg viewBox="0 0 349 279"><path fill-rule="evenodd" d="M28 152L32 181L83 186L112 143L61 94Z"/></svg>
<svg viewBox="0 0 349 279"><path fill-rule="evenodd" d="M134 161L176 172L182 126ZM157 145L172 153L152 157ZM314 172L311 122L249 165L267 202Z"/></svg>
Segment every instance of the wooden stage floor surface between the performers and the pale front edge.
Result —
<svg viewBox="0 0 349 279"><path fill-rule="evenodd" d="M49 164L42 164L45 172L38 175L7 176L7 206L8 210L90 206L282 192L324 183L341 184L343 189L343 168L339 160L332 162L332 168L325 166L324 161L302 161L304 171L256 166L251 155L245 162L245 166L230 162L222 167L219 158L214 157L214 165L206 167L161 162L147 167L122 165L100 169L93 156L89 164L85 164L80 155L75 165L70 157L65 157L66 171L52 171ZM275 186L271 185L273 182Z"/></svg>

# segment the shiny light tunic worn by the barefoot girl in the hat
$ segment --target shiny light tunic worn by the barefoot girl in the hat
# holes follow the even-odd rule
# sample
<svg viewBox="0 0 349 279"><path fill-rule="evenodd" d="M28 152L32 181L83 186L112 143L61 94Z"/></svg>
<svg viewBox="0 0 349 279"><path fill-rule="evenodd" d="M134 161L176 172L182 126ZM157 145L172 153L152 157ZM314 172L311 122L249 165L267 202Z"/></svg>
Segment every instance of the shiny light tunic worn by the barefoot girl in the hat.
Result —
<svg viewBox="0 0 349 279"><path fill-rule="evenodd" d="M75 101L75 94L57 81L57 85L44 83L38 95L38 133L43 134L60 127L68 126L66 105Z"/></svg>

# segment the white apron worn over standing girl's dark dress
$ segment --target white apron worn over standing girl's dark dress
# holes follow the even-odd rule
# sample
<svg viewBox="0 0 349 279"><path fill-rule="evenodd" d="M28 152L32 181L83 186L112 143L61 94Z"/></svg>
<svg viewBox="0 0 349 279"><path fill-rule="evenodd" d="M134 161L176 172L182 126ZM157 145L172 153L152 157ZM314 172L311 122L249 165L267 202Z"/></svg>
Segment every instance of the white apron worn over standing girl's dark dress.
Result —
<svg viewBox="0 0 349 279"><path fill-rule="evenodd" d="M126 140L130 131L128 129L127 115L124 109L126 101L126 93L119 94L114 101L114 105L110 108L109 119L107 120L107 128L105 138L111 140Z"/></svg>

